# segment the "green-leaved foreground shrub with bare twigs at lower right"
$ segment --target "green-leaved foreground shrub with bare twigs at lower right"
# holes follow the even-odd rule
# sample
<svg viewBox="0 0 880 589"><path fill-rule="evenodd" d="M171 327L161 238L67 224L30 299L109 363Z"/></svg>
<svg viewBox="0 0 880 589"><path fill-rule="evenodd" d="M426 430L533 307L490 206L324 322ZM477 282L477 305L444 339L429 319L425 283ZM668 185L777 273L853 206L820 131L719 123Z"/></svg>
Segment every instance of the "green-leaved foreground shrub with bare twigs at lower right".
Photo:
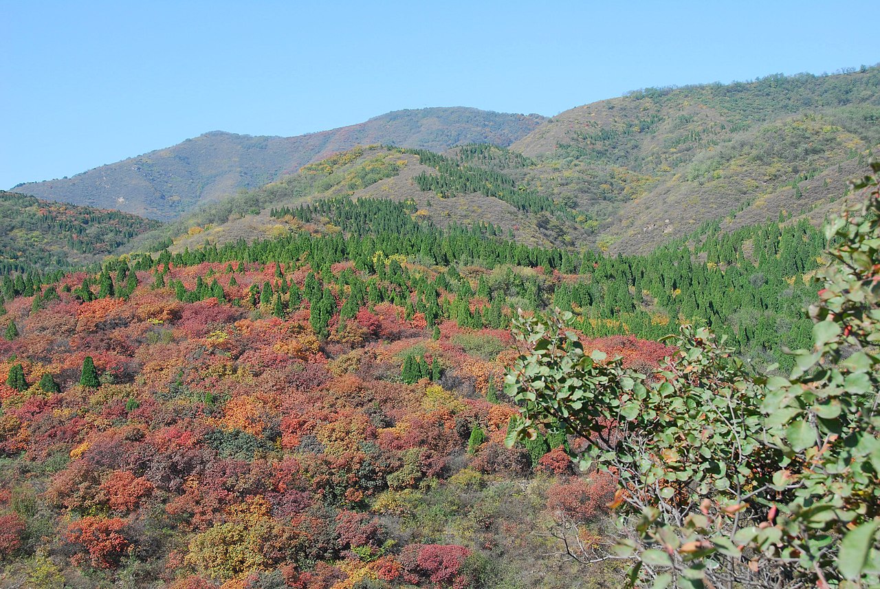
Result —
<svg viewBox="0 0 880 589"><path fill-rule="evenodd" d="M618 477L617 545L570 556L629 560L628 585L880 586L880 190L854 187L788 377L752 374L702 328L649 378L585 353L568 313L519 320L531 352L505 378L522 407L508 443L544 425L586 440L581 469Z"/></svg>

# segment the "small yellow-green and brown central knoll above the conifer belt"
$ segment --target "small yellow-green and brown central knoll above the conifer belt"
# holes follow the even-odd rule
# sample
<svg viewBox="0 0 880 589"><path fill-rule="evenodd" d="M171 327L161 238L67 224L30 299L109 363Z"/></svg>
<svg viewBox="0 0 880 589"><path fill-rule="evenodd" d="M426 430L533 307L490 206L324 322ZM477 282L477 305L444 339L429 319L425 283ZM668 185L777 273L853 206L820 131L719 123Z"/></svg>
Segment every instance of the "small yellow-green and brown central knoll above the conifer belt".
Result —
<svg viewBox="0 0 880 589"><path fill-rule="evenodd" d="M480 148L502 152L486 145ZM554 211L536 210L510 198L502 200L506 197L497 191L480 193L477 186L473 186L441 196L428 186L422 189L420 179L439 177L436 166L458 161L455 156L414 149L377 145L352 149L309 164L297 174L277 182L199 207L178 221L137 238L123 251L155 251L170 240L174 242L172 250L182 251L205 243L222 245L239 238L251 242L286 235L301 229L302 223L285 215L273 216L274 208L299 207L337 197L407 202L412 205L415 216L439 227L491 222L499 235L527 245L568 247L589 237L573 215L557 218ZM476 166L473 170L484 171Z"/></svg>

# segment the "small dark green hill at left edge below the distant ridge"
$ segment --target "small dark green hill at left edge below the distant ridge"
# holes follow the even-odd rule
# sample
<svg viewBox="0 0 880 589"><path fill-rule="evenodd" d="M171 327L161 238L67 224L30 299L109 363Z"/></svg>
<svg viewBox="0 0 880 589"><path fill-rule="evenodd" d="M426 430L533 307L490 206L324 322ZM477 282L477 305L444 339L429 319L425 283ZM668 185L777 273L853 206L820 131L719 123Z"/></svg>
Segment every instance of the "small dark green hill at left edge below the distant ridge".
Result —
<svg viewBox="0 0 880 589"><path fill-rule="evenodd" d="M99 262L159 223L0 191L0 272Z"/></svg>

